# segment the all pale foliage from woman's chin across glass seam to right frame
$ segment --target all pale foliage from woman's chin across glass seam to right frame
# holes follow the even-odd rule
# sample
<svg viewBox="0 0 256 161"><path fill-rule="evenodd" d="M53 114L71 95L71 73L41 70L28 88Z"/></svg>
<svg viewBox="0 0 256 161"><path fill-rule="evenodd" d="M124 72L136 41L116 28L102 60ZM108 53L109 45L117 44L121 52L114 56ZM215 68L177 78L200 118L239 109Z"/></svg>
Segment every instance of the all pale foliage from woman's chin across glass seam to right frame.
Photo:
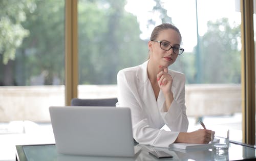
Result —
<svg viewBox="0 0 256 161"><path fill-rule="evenodd" d="M228 18L208 21L200 37L201 83L241 83L240 25L230 26ZM186 74L187 83L197 83L196 47L179 55L170 68Z"/></svg>

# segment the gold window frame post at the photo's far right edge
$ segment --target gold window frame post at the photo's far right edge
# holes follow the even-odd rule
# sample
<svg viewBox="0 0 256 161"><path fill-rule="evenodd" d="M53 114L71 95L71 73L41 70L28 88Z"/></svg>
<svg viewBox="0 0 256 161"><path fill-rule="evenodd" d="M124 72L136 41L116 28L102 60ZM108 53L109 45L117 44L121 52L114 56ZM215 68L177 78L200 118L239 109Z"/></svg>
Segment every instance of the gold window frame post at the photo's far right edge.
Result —
<svg viewBox="0 0 256 161"><path fill-rule="evenodd" d="M255 144L255 60L253 0L241 0L241 85L243 143Z"/></svg>

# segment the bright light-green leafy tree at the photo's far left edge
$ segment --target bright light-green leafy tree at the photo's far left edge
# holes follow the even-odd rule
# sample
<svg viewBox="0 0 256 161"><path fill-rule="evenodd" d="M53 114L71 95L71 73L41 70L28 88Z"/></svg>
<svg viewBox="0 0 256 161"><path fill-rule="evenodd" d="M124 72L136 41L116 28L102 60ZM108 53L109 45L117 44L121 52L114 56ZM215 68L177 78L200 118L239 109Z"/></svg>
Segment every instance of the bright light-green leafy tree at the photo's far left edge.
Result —
<svg viewBox="0 0 256 161"><path fill-rule="evenodd" d="M33 0L0 1L0 70L2 85L13 85L13 60L15 52L29 35L29 30L22 26L26 20L26 12L34 12L36 5Z"/></svg>

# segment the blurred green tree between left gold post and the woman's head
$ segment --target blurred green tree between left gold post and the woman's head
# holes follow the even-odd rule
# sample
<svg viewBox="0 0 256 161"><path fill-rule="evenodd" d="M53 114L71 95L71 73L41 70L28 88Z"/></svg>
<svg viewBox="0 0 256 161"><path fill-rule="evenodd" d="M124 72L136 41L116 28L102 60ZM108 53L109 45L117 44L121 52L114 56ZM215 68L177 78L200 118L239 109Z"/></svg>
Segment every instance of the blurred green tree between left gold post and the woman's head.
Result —
<svg viewBox="0 0 256 161"><path fill-rule="evenodd" d="M146 60L139 24L124 5L113 0L79 2L80 84L116 84L119 70Z"/></svg>

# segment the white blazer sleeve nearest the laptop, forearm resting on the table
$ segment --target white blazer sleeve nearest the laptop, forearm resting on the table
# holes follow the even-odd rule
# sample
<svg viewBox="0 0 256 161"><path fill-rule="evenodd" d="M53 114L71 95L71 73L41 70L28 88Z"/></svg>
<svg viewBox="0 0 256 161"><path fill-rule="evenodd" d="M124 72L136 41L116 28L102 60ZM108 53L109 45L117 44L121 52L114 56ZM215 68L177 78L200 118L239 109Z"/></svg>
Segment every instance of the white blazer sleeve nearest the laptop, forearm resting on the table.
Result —
<svg viewBox="0 0 256 161"><path fill-rule="evenodd" d="M136 93L136 83L128 83L129 74L123 71L117 74L118 103L117 107L130 107L132 114L133 137L140 144L156 147L168 147L174 143L179 134L178 131L165 131L152 128L148 124L146 112L140 105L140 98ZM130 79L130 78L129 78Z"/></svg>

